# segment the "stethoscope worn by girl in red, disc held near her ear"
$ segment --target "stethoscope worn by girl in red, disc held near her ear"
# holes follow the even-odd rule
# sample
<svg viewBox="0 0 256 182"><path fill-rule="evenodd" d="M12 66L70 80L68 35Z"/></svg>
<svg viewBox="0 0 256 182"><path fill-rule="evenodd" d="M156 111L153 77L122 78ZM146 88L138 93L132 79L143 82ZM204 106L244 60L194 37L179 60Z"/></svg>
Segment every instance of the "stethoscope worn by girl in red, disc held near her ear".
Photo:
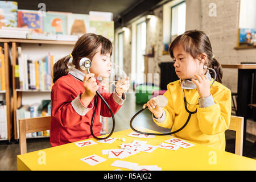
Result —
<svg viewBox="0 0 256 182"><path fill-rule="evenodd" d="M86 70L86 71L88 72L88 74L89 74L89 73L90 73L89 68L92 66L92 62L90 61L89 58L83 57L83 58L80 60L80 62L79 62L79 66L80 66L80 68L81 68L83 71ZM73 75L72 75L72 76L73 76ZM75 77L75 76L73 76L73 77ZM77 77L75 77L75 78L77 78ZM82 81L80 78L77 78L77 80ZM97 110L97 105L98 105L97 96L94 96L94 107L95 107L95 109L94 109L94 113L93 113L93 117L92 117L92 123L91 123L91 125L90 125L90 133L93 135L93 138L95 138L95 139L97 139L97 140L104 140L104 139L109 138L109 137L113 134L113 132L114 132L114 129L115 129L115 117L114 117L113 111L110 109L108 103L104 100L104 98L101 96L101 94L100 94L98 91L96 91L96 94L101 98L101 100L104 102L104 104L108 107L108 109L109 109L109 111L110 111L110 114L112 115L113 126L112 126L111 132L110 132L109 135L108 135L107 137L105 137L105 138L98 138L98 137L96 137L96 136L93 134L93 122L94 122L94 117L95 117L96 110Z"/></svg>

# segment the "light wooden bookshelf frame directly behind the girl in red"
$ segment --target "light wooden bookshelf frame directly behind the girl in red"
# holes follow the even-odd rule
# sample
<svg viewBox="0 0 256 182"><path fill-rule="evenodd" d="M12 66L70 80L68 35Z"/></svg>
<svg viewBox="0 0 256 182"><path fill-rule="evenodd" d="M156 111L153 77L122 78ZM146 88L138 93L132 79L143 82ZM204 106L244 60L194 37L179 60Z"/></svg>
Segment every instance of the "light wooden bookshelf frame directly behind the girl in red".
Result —
<svg viewBox="0 0 256 182"><path fill-rule="evenodd" d="M16 110L22 105L22 95L24 93L30 94L30 93L36 93L38 95L44 93L44 94L51 94L51 90L22 90L22 89L15 89L15 65L18 64L18 46L23 46L23 44L53 44L53 45L69 45L73 46L76 42L72 41L60 41L60 40L31 40L31 39L0 39L0 42L9 43L11 45L11 70L12 70L12 103L11 106L11 113L13 113L13 127L14 127L14 139L18 139L18 133L17 133L17 125L16 125ZM36 48L35 48L36 49ZM47 53L45 53L47 55ZM31 138L31 137L30 137ZM32 138L44 138L43 136L38 137L32 137Z"/></svg>

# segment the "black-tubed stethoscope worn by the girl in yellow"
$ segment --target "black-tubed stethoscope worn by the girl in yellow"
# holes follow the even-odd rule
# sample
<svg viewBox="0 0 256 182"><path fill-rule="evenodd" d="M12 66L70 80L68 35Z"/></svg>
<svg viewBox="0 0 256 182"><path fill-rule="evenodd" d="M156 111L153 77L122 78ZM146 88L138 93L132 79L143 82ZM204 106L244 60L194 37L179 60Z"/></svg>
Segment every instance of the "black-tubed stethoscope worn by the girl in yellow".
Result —
<svg viewBox="0 0 256 182"><path fill-rule="evenodd" d="M204 69L210 69L210 70L212 70L212 71L214 72L214 80L213 80L212 84L210 85L210 88L212 88L212 85L213 85L214 81L216 80L217 73L216 73L216 71L215 71L214 69L212 69L212 68L207 68L206 65L204 66ZM181 79L180 79L180 84L182 85ZM179 131L183 130L184 127L188 125L188 122L189 122L189 120L190 120L190 118L191 118L191 115L192 115L192 114L195 114L195 113L197 112L197 109L194 110L194 111L188 110L188 108L187 108L187 100L186 100L186 97L185 97L185 94L184 94L184 90L183 90L183 88L181 88L181 90L182 90L182 94L183 94L183 100L184 100L184 104L185 104L185 110L188 112L188 118L187 118L187 121L184 123L184 125L180 127L180 129L178 129L178 130L176 130L176 131L172 131L172 132L170 132L170 133L146 133L146 132L138 131L138 130L134 129L134 127L133 127L133 125L132 125L134 118L137 117L137 115L139 115L140 113L142 113L142 111L146 110L147 107L145 107L144 109L139 110L138 113L136 113L136 114L133 116L133 118L131 118L131 121L130 121L130 127L131 127L131 129L132 129L133 131L137 132L137 133L144 134L144 135L172 135L172 134L178 133ZM165 107L165 106L168 104L167 98L166 98L165 96L163 96L163 95L157 96L155 101L156 101L156 105L158 105L159 107ZM189 104L189 102L188 102L188 104ZM189 105L198 105L198 103L197 103L197 104L189 104ZM163 111L163 112L164 112L164 111Z"/></svg>

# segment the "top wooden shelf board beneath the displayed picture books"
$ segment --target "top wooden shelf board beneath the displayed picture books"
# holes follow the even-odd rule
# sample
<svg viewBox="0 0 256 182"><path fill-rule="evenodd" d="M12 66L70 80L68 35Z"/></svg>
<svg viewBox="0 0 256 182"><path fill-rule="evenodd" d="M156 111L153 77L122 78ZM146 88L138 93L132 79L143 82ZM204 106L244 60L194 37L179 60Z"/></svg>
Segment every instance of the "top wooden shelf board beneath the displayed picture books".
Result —
<svg viewBox="0 0 256 182"><path fill-rule="evenodd" d="M76 41L63 41L63 40L35 40L35 39L7 39L1 38L0 42L16 42L16 43L32 43L32 44L63 44L75 45Z"/></svg>

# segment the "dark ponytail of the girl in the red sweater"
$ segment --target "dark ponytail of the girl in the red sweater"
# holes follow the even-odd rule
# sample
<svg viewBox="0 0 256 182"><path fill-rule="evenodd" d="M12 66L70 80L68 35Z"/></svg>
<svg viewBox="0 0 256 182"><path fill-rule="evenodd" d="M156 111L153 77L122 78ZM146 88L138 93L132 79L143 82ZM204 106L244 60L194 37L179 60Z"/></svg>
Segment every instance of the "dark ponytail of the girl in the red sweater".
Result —
<svg viewBox="0 0 256 182"><path fill-rule="evenodd" d="M53 65L53 83L55 83L61 76L68 74L68 62L70 58L70 55L65 56Z"/></svg>

